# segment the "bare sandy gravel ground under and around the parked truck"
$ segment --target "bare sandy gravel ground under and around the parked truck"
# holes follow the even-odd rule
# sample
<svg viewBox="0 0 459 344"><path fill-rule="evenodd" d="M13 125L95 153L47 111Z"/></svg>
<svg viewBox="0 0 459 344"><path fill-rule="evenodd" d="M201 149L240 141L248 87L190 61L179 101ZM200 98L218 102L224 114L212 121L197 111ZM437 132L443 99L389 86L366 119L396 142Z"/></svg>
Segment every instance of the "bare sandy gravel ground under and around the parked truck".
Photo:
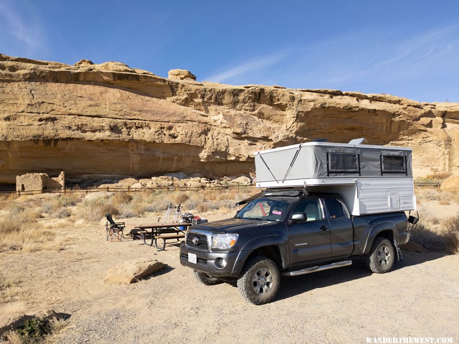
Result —
<svg viewBox="0 0 459 344"><path fill-rule="evenodd" d="M103 225L61 235L66 241L60 252L0 254L0 269L21 281L26 313L51 308L70 315L54 342L459 340L459 255L403 251L404 261L384 275L370 274L357 259L350 267L282 277L274 302L254 306L235 285L198 283L181 266L176 245L157 252L139 241L109 243ZM168 267L130 285L105 280L112 266L137 258Z"/></svg>

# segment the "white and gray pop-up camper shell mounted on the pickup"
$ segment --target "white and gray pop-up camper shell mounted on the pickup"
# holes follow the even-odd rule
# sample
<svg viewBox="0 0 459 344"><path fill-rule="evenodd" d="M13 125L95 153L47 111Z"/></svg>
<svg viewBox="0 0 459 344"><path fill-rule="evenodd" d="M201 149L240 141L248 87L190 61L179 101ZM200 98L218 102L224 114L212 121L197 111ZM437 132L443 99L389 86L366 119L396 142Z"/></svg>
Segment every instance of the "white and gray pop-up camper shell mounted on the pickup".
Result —
<svg viewBox="0 0 459 344"><path fill-rule="evenodd" d="M308 142L257 152L255 169L257 188L339 193L354 216L416 210L411 148Z"/></svg>

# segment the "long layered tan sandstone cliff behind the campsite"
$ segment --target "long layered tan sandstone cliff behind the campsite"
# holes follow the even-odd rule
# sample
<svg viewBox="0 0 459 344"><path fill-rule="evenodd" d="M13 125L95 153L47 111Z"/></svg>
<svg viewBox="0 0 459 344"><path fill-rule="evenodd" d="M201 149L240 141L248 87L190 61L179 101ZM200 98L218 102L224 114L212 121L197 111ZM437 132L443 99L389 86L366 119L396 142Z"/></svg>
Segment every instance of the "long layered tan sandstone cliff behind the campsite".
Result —
<svg viewBox="0 0 459 344"><path fill-rule="evenodd" d="M316 138L412 147L416 176L459 170L459 103L199 83L190 74L0 55L0 183L60 171L235 176L254 172L256 151Z"/></svg>

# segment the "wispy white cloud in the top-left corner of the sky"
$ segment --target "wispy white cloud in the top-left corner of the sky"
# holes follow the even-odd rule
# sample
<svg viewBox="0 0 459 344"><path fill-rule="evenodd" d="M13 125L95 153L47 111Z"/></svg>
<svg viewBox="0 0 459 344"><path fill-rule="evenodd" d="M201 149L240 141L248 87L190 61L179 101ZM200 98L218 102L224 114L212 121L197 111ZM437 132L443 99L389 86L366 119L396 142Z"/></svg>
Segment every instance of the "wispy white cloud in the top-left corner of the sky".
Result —
<svg viewBox="0 0 459 344"><path fill-rule="evenodd" d="M27 50L34 51L44 46L41 29L33 21L22 18L5 3L0 3L0 20L3 21L1 25L3 30L13 36L18 43L24 44Z"/></svg>

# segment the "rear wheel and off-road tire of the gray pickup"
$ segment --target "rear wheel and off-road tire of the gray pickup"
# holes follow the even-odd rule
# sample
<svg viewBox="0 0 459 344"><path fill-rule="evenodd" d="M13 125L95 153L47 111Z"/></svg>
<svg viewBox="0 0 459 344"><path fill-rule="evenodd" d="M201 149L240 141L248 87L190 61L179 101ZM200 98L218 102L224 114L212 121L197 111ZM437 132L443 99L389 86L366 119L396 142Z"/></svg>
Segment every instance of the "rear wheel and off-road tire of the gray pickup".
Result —
<svg viewBox="0 0 459 344"><path fill-rule="evenodd" d="M389 239L377 236L370 252L365 257L368 269L377 274L384 274L393 269L395 264L395 249Z"/></svg>

